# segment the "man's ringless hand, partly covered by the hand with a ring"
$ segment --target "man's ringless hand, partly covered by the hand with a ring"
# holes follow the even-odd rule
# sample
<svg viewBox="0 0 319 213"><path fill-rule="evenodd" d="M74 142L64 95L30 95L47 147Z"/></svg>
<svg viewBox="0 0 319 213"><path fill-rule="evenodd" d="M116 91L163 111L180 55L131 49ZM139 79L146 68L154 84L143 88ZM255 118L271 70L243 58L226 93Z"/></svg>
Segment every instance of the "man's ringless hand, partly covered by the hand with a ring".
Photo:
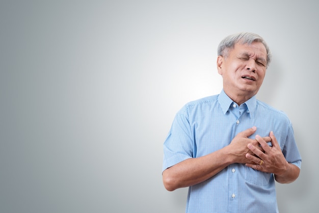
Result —
<svg viewBox="0 0 319 213"><path fill-rule="evenodd" d="M246 155L249 154L249 156L255 155L254 152L252 152L251 149L248 148L248 145L250 144L253 146L256 150L259 152L264 152L263 148L259 146L259 143L255 139L248 138L254 132L256 131L256 127L252 127L249 129L246 129L240 133L238 133L230 142L229 148L232 152L232 154L235 156L234 163L240 163L240 164L254 164L255 162L252 161L252 159L247 158ZM267 144L267 142L271 141L270 137L264 137L262 140Z"/></svg>

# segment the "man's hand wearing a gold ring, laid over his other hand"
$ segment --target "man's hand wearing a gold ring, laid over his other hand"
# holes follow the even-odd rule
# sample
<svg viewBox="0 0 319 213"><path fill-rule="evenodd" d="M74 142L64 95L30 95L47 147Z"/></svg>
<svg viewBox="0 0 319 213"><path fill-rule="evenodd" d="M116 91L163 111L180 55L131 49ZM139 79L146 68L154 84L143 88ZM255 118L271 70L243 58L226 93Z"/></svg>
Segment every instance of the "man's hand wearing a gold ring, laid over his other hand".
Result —
<svg viewBox="0 0 319 213"><path fill-rule="evenodd" d="M250 153L246 154L246 157L253 162L247 163L246 166L262 172L281 175L281 173L286 171L288 162L281 151L274 132L271 131L269 136L271 138L272 147L267 144L267 141L256 135L256 140L264 152L256 148L254 144L248 144L248 149L250 149L255 156Z"/></svg>

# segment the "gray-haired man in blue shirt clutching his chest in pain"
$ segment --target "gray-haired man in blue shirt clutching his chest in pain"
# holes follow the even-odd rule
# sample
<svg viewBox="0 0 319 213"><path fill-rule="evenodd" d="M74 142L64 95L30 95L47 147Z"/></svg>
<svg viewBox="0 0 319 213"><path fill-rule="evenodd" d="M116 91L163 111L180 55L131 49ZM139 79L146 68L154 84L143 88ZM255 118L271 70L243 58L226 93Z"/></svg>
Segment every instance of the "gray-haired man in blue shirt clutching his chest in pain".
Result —
<svg viewBox="0 0 319 213"><path fill-rule="evenodd" d="M223 90L186 104L164 143L168 191L189 187L186 212L279 212L275 180L299 176L301 156L287 116L256 100L271 53L253 33L218 48Z"/></svg>

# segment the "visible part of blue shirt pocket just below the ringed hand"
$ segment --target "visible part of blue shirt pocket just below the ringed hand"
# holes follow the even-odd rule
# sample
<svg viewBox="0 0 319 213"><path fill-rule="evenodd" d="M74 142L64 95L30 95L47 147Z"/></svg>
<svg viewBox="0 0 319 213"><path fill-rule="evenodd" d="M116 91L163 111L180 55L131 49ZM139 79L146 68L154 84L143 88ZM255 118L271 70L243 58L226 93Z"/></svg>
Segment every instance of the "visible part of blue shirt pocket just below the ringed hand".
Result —
<svg viewBox="0 0 319 213"><path fill-rule="evenodd" d="M256 185L267 185L273 175L272 173L261 172L250 167L246 167L245 170L245 179Z"/></svg>

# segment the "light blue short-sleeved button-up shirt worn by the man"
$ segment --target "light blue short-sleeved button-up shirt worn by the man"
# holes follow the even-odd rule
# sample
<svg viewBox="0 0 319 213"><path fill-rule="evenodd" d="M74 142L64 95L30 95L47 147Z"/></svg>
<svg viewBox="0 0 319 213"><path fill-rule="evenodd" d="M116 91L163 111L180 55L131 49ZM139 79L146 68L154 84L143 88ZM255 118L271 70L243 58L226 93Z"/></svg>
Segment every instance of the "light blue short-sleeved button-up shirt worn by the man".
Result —
<svg viewBox="0 0 319 213"><path fill-rule="evenodd" d="M219 95L189 102L176 114L164 143L163 171L185 159L219 150L253 126L257 130L249 138L274 131L287 162L300 168L301 156L288 117L255 96L238 106L222 90ZM189 187L186 212L279 212L274 175L231 164Z"/></svg>

